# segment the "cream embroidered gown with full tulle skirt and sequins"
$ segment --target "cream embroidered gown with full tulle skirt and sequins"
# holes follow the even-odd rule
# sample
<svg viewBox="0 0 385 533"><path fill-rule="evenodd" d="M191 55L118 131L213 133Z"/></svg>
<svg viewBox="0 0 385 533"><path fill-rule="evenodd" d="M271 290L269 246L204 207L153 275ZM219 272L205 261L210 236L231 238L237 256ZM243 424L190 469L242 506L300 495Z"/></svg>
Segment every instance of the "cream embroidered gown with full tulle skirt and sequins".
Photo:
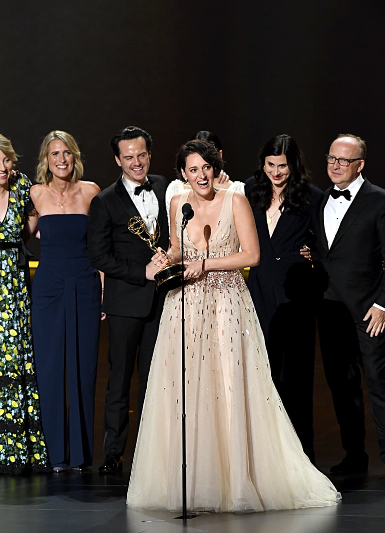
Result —
<svg viewBox="0 0 385 533"><path fill-rule="evenodd" d="M180 240L181 206L177 209ZM239 250L226 191L207 251L185 231L185 260ZM273 385L258 318L239 271L185 286L187 508L265 511L333 505L339 495L310 463ZM127 504L182 508L181 289L167 294L155 345Z"/></svg>

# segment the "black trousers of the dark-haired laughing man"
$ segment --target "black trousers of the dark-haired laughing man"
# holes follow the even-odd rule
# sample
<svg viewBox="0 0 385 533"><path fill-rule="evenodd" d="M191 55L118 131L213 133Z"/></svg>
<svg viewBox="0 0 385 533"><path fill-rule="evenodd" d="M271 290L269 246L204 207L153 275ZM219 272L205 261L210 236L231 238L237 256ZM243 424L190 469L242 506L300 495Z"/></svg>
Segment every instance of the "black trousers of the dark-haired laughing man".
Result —
<svg viewBox="0 0 385 533"><path fill-rule="evenodd" d="M130 385L135 362L138 367L137 426L140 424L163 302L164 295L155 294L148 317L107 316L109 378L104 407L105 455L122 455L126 447Z"/></svg>

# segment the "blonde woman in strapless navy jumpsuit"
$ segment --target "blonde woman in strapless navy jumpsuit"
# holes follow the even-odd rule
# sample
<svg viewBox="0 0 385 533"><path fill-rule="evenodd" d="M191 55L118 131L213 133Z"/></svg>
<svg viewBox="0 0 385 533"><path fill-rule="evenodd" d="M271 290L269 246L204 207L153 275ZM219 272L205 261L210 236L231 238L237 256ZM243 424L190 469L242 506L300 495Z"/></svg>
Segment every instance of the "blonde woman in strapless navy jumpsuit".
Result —
<svg viewBox="0 0 385 533"><path fill-rule="evenodd" d="M80 157L72 135L48 133L40 147L38 184L31 188L41 239L32 326L43 428L54 472L68 465L82 470L92 464L93 455L101 281L89 264L86 236L89 204L100 189L80 180Z"/></svg>

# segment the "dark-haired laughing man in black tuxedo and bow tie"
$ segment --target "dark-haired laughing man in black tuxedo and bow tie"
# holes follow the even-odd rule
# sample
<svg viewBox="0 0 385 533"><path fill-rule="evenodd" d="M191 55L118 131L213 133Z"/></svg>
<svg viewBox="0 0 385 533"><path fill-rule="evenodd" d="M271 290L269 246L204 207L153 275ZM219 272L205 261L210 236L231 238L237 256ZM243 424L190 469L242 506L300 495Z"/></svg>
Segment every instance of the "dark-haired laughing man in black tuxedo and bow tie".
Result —
<svg viewBox="0 0 385 533"><path fill-rule="evenodd" d="M157 246L168 248L165 177L148 174L151 136L130 126L111 141L118 180L95 196L89 211L88 250L95 269L104 272L102 310L109 329L109 378L104 411L105 461L100 473L122 470L128 435L130 382L137 358L139 423L164 295L155 290L149 246L128 230L131 217L141 216L153 233L158 220Z"/></svg>

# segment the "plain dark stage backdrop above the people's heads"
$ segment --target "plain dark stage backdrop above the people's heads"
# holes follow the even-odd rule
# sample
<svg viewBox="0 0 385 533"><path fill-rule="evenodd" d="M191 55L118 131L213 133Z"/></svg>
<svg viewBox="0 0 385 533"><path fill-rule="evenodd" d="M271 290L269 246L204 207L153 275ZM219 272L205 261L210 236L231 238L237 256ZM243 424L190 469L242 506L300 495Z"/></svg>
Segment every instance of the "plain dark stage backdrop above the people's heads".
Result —
<svg viewBox="0 0 385 533"><path fill-rule="evenodd" d="M151 170L169 180L197 130L217 132L236 180L289 133L322 189L330 141L350 132L384 186L383 11L372 0L2 0L0 132L34 177L45 134L69 131L101 188L118 176L109 142L127 125L152 134Z"/></svg>

